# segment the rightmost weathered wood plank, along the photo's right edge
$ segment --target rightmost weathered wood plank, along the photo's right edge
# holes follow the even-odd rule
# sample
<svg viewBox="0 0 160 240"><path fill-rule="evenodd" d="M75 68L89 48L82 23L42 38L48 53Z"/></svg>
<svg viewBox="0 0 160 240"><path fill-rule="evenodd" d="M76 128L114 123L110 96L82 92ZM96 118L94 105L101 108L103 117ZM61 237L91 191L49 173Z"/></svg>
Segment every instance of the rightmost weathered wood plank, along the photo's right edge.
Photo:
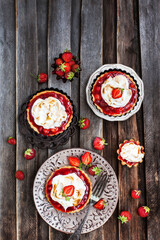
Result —
<svg viewBox="0 0 160 240"><path fill-rule="evenodd" d="M139 1L142 77L145 86L144 139L146 204L151 209L147 218L147 239L160 237L160 5L158 1Z"/></svg>

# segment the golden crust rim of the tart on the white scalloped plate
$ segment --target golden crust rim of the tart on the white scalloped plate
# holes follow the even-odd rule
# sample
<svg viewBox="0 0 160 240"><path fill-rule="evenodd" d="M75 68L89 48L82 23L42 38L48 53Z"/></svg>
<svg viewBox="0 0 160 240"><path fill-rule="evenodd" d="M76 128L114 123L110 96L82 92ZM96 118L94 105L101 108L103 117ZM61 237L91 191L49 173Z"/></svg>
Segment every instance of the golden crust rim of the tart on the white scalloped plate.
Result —
<svg viewBox="0 0 160 240"><path fill-rule="evenodd" d="M113 71L114 71L114 70L113 70ZM108 73L108 72L107 72L107 73ZM95 97L94 97L94 95L93 95L93 89L94 89L95 85L97 84L98 80L99 80L100 78L103 78L103 76L105 76L107 73L104 73L104 74L100 75L100 76L96 79L96 81L95 81L95 83L93 84L93 87L92 87L92 101L93 101L93 103L96 105L96 107L97 107L103 114L105 114L104 111L103 111L103 108L101 108L100 106L98 106L98 105L95 103L95 100L96 100L96 99L95 99ZM123 72L122 72L122 73L123 73ZM130 75L126 74L126 73L123 73L123 75L127 76L127 77L129 78L129 80L135 85L135 87L136 87L136 89L137 89L137 85L136 85L135 81L133 80L133 78L132 78ZM107 80L107 79L106 79L106 80ZM120 114L116 114L116 113L115 113L115 114L112 114L111 116L115 116L115 117L116 117L116 116L122 116L122 115L130 112L130 111L134 108L134 106L136 105L137 100L138 100L138 97L137 97L135 103L132 105L132 107L131 107L127 112L125 112L125 113L120 113ZM105 115L108 115L108 114L105 114Z"/></svg>

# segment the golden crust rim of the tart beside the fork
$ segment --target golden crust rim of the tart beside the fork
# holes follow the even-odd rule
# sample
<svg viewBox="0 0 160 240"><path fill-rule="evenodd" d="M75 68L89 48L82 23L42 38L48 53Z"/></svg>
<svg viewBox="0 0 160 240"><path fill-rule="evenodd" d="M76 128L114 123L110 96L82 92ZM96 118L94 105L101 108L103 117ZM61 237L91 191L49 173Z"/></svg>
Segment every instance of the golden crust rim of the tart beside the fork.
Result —
<svg viewBox="0 0 160 240"><path fill-rule="evenodd" d="M87 176L87 174L86 174L83 170L80 170L79 168L76 168L76 167L73 167L73 166L61 167L61 168L57 169L56 171L59 171L60 169L64 169L64 168L65 168L65 169L66 169L66 168L67 168L67 169L71 169L71 168L78 169L80 172L82 172L82 173L85 175L85 177L87 178L87 180L88 180L88 182L89 182L90 192L89 192L89 195L88 195L88 199L87 199L87 201L84 203L83 207L80 208L80 209L76 209L76 210L73 210L73 211L66 212L66 213L79 212L79 211L81 211L81 210L88 204L88 202L89 202L89 200L90 200L90 197L91 197L91 194L92 194L92 183L91 183L91 180L90 180L90 178ZM56 171L54 171L54 172L50 175L50 177L48 178L48 180L47 180L47 182L46 182L46 187L47 187L47 184L48 184L49 180L52 178L53 174L54 174ZM47 195L46 188L45 188L45 192L46 192L46 198L47 198L47 200L48 200L49 203L52 205L52 203L50 202L49 197L48 197L48 195ZM52 205L52 206L53 206L53 205ZM54 206L53 206L53 207L54 207ZM58 210L58 211L61 211L60 209L57 209L57 210Z"/></svg>

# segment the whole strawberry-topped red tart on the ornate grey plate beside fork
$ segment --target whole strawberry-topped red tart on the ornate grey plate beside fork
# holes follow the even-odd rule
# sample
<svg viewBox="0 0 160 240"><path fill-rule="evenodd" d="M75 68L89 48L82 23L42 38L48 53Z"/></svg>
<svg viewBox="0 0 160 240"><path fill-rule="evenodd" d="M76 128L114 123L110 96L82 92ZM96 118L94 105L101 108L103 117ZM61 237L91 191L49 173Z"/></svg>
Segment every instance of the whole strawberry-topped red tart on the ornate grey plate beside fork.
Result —
<svg viewBox="0 0 160 240"><path fill-rule="evenodd" d="M48 201L55 209L74 213L82 210L89 202L92 184L82 170L66 166L51 174L45 191Z"/></svg>

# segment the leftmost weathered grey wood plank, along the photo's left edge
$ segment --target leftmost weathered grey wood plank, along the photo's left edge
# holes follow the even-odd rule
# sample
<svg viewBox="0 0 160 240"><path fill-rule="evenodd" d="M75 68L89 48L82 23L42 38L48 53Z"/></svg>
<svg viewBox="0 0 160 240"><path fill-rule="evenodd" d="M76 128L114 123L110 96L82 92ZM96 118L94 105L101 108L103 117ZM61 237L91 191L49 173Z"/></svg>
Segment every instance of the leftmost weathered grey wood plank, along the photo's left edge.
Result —
<svg viewBox="0 0 160 240"><path fill-rule="evenodd" d="M14 2L2 0L0 9L0 239L15 240L16 147L7 143L9 136L16 135Z"/></svg>

